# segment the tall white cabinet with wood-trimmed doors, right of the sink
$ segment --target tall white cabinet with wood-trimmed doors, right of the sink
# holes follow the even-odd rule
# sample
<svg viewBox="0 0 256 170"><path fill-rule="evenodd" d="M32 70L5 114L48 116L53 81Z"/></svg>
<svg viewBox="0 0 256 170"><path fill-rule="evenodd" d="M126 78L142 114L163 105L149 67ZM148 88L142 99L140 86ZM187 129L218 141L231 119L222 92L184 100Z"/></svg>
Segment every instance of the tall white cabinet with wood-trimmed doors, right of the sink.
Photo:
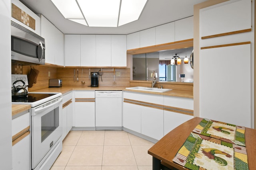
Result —
<svg viewBox="0 0 256 170"><path fill-rule="evenodd" d="M200 10L200 117L254 127L251 7L230 0Z"/></svg>

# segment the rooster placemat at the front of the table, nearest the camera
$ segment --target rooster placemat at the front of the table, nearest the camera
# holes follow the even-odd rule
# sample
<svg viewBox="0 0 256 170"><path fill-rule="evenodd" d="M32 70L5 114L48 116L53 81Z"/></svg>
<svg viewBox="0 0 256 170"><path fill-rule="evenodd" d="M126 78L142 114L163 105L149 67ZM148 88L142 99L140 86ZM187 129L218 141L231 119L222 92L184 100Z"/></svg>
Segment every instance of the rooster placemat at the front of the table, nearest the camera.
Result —
<svg viewBox="0 0 256 170"><path fill-rule="evenodd" d="M191 170L248 170L246 148L190 133L173 162Z"/></svg>

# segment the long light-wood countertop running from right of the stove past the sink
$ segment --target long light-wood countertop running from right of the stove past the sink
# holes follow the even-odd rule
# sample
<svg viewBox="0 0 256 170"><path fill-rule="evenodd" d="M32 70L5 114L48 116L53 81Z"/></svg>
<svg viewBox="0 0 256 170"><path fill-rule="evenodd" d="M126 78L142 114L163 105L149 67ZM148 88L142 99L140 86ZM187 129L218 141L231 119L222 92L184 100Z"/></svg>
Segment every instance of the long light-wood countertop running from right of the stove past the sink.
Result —
<svg viewBox="0 0 256 170"><path fill-rule="evenodd" d="M130 92L137 93L145 93L145 94L157 94L164 96L175 96L182 98L193 98L193 92L186 90L170 90L167 92L159 93L159 92L146 92L146 91L138 91L138 90L130 90L126 89L127 86L99 86L99 87L90 87L90 86L62 86L62 87L54 87L54 88L44 88L40 90L35 90L33 92L60 92L62 94L66 94L71 90L125 90Z"/></svg>

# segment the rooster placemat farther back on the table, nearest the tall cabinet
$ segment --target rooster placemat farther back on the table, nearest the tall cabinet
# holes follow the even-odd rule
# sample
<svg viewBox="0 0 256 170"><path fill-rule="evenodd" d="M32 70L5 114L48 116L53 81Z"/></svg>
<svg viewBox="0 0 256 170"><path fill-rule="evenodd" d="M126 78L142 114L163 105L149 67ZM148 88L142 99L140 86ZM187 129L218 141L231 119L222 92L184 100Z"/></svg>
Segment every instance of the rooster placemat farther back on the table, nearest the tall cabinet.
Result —
<svg viewBox="0 0 256 170"><path fill-rule="evenodd" d="M245 146L245 127L214 121L204 118L193 130L193 132Z"/></svg>

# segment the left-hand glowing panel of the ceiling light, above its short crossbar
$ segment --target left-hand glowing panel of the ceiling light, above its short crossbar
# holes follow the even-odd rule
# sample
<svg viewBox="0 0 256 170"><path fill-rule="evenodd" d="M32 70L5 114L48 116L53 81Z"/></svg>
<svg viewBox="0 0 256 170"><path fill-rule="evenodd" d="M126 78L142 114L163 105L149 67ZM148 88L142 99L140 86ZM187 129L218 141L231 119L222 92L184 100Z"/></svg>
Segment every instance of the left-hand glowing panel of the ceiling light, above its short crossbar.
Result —
<svg viewBox="0 0 256 170"><path fill-rule="evenodd" d="M76 0L51 0L66 19L84 19Z"/></svg>

